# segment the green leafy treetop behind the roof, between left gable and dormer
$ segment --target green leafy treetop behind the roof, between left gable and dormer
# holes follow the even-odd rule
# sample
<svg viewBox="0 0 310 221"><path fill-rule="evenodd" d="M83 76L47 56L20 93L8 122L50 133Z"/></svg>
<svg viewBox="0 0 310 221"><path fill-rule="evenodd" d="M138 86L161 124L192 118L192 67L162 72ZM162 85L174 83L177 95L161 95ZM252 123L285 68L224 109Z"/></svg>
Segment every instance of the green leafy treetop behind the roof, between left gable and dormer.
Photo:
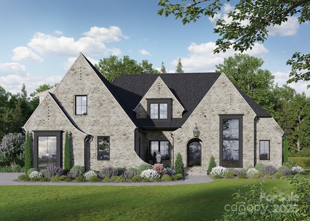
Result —
<svg viewBox="0 0 310 221"><path fill-rule="evenodd" d="M99 64L95 64L95 68L109 81L112 82L122 74L159 74L152 68L148 60L142 60L138 63L129 56L118 59L117 56L111 55L109 58L100 59Z"/></svg>

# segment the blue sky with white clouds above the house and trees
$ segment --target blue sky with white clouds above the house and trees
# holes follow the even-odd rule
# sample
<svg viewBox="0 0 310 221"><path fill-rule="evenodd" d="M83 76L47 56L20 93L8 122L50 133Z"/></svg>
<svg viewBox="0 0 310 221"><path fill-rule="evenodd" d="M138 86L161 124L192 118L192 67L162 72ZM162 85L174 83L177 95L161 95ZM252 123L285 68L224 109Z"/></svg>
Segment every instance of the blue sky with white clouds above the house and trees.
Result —
<svg viewBox="0 0 310 221"><path fill-rule="evenodd" d="M225 19L230 6L218 16ZM40 85L59 83L80 52L93 64L110 55L148 60L158 69L164 62L171 73L178 59L184 72L214 72L237 53L213 54L218 35L209 17L184 26L174 16L158 16L159 9L158 0L0 0L0 86L16 94L25 83L29 95ZM291 17L246 53L262 58L262 69L282 86L291 70L286 61L296 51L310 51L309 26ZM310 96L308 84L290 87Z"/></svg>

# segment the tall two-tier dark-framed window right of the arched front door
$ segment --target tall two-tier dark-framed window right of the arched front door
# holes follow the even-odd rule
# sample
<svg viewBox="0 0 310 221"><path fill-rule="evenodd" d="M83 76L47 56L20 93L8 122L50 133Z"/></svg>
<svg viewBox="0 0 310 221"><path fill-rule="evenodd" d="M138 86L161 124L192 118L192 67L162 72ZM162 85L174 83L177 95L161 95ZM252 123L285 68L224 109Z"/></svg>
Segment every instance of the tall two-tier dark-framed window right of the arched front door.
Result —
<svg viewBox="0 0 310 221"><path fill-rule="evenodd" d="M220 164L242 167L242 116L220 116Z"/></svg>

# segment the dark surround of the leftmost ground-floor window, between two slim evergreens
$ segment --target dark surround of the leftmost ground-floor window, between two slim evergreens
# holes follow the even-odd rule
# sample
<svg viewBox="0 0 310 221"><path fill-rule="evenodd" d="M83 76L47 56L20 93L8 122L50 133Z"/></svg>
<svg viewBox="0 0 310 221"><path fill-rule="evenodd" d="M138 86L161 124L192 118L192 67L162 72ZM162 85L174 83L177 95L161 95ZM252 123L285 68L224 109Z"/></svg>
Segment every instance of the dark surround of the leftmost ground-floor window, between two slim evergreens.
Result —
<svg viewBox="0 0 310 221"><path fill-rule="evenodd" d="M56 136L56 166L62 167L62 133L63 131L33 131L33 168L39 168L38 165L38 156L39 156L39 149L38 149L38 137L39 136Z"/></svg>

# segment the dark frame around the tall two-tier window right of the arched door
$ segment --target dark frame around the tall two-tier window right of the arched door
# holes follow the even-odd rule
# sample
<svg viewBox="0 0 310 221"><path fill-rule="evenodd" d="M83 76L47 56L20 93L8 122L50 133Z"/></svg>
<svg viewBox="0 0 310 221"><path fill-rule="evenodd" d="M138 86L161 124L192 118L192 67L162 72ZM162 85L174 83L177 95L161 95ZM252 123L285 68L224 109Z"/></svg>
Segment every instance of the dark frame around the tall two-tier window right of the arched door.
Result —
<svg viewBox="0 0 310 221"><path fill-rule="evenodd" d="M238 138L223 138L223 120L239 120L239 135ZM238 166L228 166L223 164L223 141L239 141L239 165ZM233 115L219 115L219 165L227 168L242 168L243 167L243 114L233 114Z"/></svg>

